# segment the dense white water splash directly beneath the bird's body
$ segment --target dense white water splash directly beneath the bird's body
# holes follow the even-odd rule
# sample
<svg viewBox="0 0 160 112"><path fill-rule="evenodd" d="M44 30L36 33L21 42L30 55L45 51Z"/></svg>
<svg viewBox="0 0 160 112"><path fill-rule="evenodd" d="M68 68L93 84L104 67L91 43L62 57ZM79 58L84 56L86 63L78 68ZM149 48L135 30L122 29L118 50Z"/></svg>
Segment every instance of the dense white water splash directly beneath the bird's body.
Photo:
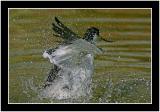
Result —
<svg viewBox="0 0 160 112"><path fill-rule="evenodd" d="M41 96L59 100L87 96L91 91L92 73L92 68L91 70L78 67L63 68L51 85L44 88Z"/></svg>

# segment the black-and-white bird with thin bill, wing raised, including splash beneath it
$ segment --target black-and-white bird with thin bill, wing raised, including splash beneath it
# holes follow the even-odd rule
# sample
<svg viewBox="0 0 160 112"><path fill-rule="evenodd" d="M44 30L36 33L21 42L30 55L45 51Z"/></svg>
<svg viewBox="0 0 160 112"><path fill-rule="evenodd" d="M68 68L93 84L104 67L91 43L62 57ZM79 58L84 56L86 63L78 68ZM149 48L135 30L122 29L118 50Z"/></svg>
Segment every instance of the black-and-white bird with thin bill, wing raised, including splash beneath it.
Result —
<svg viewBox="0 0 160 112"><path fill-rule="evenodd" d="M91 93L94 56L104 52L96 46L97 39L101 38L99 29L90 27L81 37L57 17L55 22L52 23L53 35L62 38L63 42L43 53L43 57L53 65L43 86L43 95L55 99L88 96Z"/></svg>

